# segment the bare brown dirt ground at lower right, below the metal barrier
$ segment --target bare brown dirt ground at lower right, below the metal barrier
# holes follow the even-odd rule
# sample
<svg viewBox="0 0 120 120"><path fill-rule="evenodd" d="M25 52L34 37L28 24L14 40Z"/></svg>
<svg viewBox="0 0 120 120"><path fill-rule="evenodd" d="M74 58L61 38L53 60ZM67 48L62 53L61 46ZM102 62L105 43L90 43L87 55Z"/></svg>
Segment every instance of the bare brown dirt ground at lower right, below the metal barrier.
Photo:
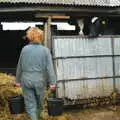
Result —
<svg viewBox="0 0 120 120"><path fill-rule="evenodd" d="M120 107L107 107L67 112L69 120L120 120Z"/></svg>

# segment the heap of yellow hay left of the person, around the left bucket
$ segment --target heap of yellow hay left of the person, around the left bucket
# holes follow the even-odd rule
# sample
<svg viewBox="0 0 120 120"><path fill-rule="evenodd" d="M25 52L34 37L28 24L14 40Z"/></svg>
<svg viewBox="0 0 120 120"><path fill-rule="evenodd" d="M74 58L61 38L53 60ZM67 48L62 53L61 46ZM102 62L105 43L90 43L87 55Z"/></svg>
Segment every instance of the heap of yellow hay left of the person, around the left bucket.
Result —
<svg viewBox="0 0 120 120"><path fill-rule="evenodd" d="M14 87L15 76L0 73L0 120L12 120L22 118L29 120L27 114L11 115L8 107L8 97L21 95L22 89Z"/></svg>

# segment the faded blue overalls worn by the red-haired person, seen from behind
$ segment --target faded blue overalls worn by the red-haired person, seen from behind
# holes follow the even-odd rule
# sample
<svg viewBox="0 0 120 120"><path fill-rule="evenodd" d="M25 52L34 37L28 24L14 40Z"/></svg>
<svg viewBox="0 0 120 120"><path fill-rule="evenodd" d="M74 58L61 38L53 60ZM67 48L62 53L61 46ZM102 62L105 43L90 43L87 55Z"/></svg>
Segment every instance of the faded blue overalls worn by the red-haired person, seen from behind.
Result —
<svg viewBox="0 0 120 120"><path fill-rule="evenodd" d="M47 80L50 84L56 82L49 49L37 43L26 45L19 57L16 82L21 83L26 111L32 120L38 120Z"/></svg>

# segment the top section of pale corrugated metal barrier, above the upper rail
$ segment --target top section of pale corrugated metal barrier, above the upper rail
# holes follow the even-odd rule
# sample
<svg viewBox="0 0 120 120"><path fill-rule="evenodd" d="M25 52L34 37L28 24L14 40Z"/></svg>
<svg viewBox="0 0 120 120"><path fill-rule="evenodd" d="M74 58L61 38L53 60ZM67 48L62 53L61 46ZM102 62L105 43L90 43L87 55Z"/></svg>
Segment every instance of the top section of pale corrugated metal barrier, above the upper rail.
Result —
<svg viewBox="0 0 120 120"><path fill-rule="evenodd" d="M55 57L111 55L110 38L54 38Z"/></svg>

